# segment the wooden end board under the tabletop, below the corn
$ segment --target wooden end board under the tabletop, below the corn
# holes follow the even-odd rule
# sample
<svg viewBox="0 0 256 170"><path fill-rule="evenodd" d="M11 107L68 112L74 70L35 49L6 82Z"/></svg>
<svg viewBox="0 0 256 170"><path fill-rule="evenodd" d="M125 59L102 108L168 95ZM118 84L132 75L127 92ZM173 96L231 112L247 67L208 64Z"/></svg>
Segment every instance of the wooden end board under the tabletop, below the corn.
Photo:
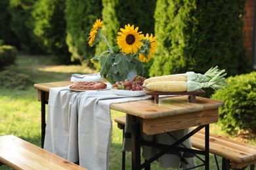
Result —
<svg viewBox="0 0 256 170"><path fill-rule="evenodd" d="M217 122L218 109L189 112L158 119L143 119L142 121L143 132L147 135L154 135Z"/></svg>

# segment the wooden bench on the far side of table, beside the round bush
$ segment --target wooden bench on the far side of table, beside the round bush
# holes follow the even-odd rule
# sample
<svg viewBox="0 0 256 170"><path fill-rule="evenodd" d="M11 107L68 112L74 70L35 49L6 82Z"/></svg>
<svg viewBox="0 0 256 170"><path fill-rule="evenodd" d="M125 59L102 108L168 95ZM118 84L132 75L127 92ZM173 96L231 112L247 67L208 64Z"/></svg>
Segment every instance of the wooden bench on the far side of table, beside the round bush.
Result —
<svg viewBox="0 0 256 170"><path fill-rule="evenodd" d="M124 130L126 117L120 116L114 120L117 122L117 127ZM204 131L198 131L190 138L192 146L204 150L204 138ZM243 169L247 166L250 166L251 170L255 169L256 146L212 134L209 136L209 142L209 152L223 158L222 169ZM123 155L125 156L125 154Z"/></svg>

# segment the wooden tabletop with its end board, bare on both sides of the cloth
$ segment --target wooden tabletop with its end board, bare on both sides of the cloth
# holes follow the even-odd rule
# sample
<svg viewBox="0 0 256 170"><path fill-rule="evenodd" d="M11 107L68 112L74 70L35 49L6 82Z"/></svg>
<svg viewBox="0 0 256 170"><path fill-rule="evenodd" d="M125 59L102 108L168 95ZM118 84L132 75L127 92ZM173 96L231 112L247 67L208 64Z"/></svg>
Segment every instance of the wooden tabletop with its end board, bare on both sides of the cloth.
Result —
<svg viewBox="0 0 256 170"><path fill-rule="evenodd" d="M50 88L70 84L70 81L46 82L35 84L34 88L38 90L37 96L40 101L41 91L47 92L45 95L48 95ZM217 122L219 107L223 106L223 101L197 96L194 103L188 99L188 95L179 95L160 98L159 103L155 103L154 99L114 103L110 105L110 109L142 118L143 131L153 135Z"/></svg>

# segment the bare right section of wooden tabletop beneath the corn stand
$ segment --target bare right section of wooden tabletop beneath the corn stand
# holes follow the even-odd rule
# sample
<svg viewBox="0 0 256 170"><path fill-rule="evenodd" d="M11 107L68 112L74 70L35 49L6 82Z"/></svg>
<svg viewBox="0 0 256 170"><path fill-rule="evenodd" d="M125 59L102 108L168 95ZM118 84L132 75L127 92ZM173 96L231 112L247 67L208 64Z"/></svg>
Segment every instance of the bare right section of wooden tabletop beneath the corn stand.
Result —
<svg viewBox="0 0 256 170"><path fill-rule="evenodd" d="M154 103L153 99L114 103L110 108L144 119L157 119L188 112L217 109L223 107L223 105L223 101L203 97L196 97L196 103L192 103L187 99L186 95L182 95L162 98L159 103Z"/></svg>

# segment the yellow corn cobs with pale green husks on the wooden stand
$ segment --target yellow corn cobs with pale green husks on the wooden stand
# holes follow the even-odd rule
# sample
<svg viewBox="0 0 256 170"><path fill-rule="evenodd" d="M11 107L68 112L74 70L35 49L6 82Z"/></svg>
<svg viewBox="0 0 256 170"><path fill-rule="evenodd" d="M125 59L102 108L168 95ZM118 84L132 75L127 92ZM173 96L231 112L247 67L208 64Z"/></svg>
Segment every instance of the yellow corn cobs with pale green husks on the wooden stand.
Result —
<svg viewBox="0 0 256 170"><path fill-rule="evenodd" d="M216 66L204 75L189 71L184 74L154 76L144 80L143 86L156 92L194 92L202 88L218 90L227 85L224 72Z"/></svg>

